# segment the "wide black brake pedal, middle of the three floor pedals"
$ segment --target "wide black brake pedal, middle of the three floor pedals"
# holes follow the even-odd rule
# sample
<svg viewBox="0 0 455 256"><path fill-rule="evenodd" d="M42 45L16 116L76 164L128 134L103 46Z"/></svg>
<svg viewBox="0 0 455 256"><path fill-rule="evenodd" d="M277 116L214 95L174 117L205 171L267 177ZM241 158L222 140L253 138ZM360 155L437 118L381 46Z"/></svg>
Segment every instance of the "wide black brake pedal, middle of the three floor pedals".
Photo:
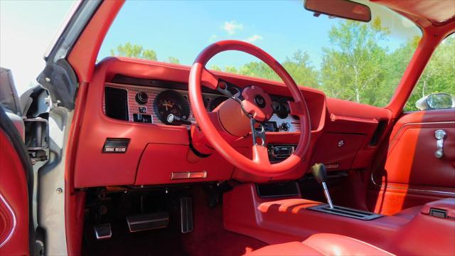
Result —
<svg viewBox="0 0 455 256"><path fill-rule="evenodd" d="M169 225L169 213L149 213L127 217L129 232L166 228Z"/></svg>

